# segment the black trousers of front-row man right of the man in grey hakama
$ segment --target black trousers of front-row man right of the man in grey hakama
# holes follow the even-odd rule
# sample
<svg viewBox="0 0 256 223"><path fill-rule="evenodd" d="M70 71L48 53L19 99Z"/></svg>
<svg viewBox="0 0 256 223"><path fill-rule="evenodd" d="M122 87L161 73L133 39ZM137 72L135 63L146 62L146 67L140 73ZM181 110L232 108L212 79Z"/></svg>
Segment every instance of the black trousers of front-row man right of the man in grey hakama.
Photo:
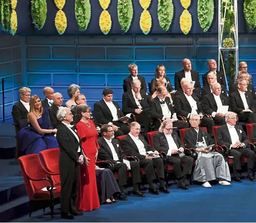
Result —
<svg viewBox="0 0 256 223"><path fill-rule="evenodd" d="M253 169L254 161L255 161L255 153L254 151L248 149L248 148L232 148L230 150L230 156L234 156L233 158L233 168L235 170L241 169L241 156L246 156L248 158L247 160L247 168Z"/></svg>

